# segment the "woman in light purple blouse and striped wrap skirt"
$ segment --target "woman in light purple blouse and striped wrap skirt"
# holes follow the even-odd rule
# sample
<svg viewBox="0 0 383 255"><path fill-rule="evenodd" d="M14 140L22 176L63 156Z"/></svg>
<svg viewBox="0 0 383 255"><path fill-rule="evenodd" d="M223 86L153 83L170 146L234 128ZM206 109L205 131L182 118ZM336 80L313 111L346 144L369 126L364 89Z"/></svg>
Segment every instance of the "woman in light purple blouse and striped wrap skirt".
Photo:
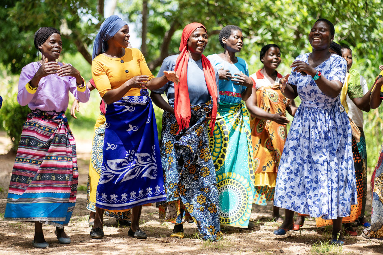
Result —
<svg viewBox="0 0 383 255"><path fill-rule="evenodd" d="M40 28L34 46L42 57L20 74L17 101L32 112L23 125L4 220L34 222L33 246L48 248L43 223L56 226L59 243L69 244L64 226L76 202L76 145L64 115L69 91L80 102L89 100L90 91L76 68L56 62L62 51L57 29Z"/></svg>

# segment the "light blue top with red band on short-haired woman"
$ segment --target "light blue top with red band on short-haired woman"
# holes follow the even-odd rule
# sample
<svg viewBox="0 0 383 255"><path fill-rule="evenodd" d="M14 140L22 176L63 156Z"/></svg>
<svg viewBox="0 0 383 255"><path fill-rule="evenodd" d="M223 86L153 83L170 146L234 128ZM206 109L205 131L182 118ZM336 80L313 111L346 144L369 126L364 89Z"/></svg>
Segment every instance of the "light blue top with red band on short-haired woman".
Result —
<svg viewBox="0 0 383 255"><path fill-rule="evenodd" d="M208 55L207 58L210 60L211 64L216 69L229 70L231 76L234 76L234 73L244 73L249 76L249 67L245 60L240 57L237 57L237 63L231 64L221 57L218 54ZM219 95L221 102L228 102L232 104L239 104L242 100L241 93L246 89L245 86L237 85L233 81L229 80L219 80Z"/></svg>

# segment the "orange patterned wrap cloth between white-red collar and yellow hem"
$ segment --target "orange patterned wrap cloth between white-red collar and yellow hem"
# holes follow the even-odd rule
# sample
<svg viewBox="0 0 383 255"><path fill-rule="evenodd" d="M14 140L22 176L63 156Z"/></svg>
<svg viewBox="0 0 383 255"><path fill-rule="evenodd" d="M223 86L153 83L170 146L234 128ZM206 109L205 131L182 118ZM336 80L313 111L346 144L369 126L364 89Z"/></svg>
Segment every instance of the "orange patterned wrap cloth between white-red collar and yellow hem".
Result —
<svg viewBox="0 0 383 255"><path fill-rule="evenodd" d="M281 93L278 84L257 89L257 101L258 107L262 110L271 114L283 112L283 116L286 116L286 107L290 103L290 100ZM276 173L286 141L286 125L251 116L250 126L255 173Z"/></svg>

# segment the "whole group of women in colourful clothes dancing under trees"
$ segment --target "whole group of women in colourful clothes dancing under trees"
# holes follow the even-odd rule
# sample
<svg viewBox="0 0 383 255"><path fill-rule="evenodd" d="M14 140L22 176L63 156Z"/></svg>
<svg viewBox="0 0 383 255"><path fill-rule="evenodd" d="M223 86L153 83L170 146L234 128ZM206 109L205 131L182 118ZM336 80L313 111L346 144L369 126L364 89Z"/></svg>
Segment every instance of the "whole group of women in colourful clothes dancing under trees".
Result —
<svg viewBox="0 0 383 255"><path fill-rule="evenodd" d="M262 48L263 67L249 75L246 61L236 56L244 44L241 28L224 27L223 52L205 57L207 29L191 23L183 29L180 54L165 58L154 77L142 53L129 47L128 24L114 15L101 24L93 79L85 84L78 70L56 62L60 32L40 28L34 44L42 58L20 75L18 102L32 113L23 126L4 219L34 222L34 247L49 247L43 223L56 226L61 244L70 243L64 226L74 208L78 172L64 111L69 91L77 100L75 116L78 102L88 101L95 88L103 100L88 176L91 237L104 236L106 214L130 225L129 236L145 239L139 226L142 205L156 203L160 218L174 224L170 236L184 238L187 221L196 223L203 239L219 240L221 226L247 228L252 204L274 200L273 219L282 222L279 208L285 208L274 234L295 228L296 211L332 220L331 242L343 244L342 218L360 203L352 145L361 136L353 138L341 103L347 63L329 52L334 26L318 19L308 37L313 52L296 58L291 75L276 71L281 52L275 44ZM382 84L379 78L372 89L373 107L383 98ZM358 93L348 95L364 97ZM355 104L365 106L367 97ZM152 102L164 110L160 141ZM288 135L286 111L294 116ZM379 209L378 165L373 208ZM380 215L373 213L366 237L381 237Z"/></svg>

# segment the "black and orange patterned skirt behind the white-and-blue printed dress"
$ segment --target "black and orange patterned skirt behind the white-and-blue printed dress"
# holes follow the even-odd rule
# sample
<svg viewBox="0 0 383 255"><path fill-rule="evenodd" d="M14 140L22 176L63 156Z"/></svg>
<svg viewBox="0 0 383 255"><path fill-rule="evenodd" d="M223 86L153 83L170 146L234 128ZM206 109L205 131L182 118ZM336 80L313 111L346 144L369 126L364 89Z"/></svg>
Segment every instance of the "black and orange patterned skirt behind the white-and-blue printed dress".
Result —
<svg viewBox="0 0 383 255"><path fill-rule="evenodd" d="M352 154L354 155L354 166L355 166L355 177L357 181L357 194L358 194L358 204L351 206L350 216L343 217L342 223L352 223L362 213L362 199L363 199L363 162L362 157L359 154L358 146L355 141L354 136L352 137ZM323 227L332 225L332 220L324 220L322 218L316 218L316 226Z"/></svg>

